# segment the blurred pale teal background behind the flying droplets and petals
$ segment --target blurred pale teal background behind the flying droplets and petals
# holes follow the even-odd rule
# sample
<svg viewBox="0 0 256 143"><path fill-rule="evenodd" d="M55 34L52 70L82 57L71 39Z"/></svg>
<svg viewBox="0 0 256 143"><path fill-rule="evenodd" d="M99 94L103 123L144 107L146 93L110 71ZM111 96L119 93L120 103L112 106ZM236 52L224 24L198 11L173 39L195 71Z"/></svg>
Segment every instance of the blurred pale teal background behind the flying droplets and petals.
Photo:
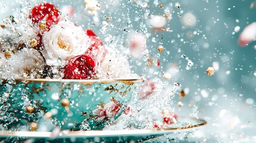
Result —
<svg viewBox="0 0 256 143"><path fill-rule="evenodd" d="M159 56L161 60L160 68L146 66L143 61L145 59L135 61L134 58L131 58L131 63L135 73L144 73L150 78L159 77L150 71L166 71L171 63L177 64L179 71L175 75L175 80L168 82L171 84L172 82L181 83L183 89L189 88L189 93L183 99L179 99L178 94L176 95L177 98L174 100L175 110L178 114L185 116L198 114L199 117L208 121L208 125L199 131L201 134L196 134L188 141L203 141L202 139L206 138L206 141L209 142L233 142L239 141L239 139L240 141L252 139L255 136L253 130L255 129L256 117L255 103L252 105L246 104L246 99L252 98L255 102L256 97L256 79L253 74L256 72L256 49L254 48L256 42L250 43L245 48L241 48L237 43L239 33L242 32L243 28L256 21L256 7L249 8L251 3L256 5L255 1L165 0L158 1L164 8L159 8L153 1L149 2L148 8L142 8L134 1L116 0L112 1L112 7L106 8L106 4L110 3L110 0L108 0L100 2L101 10L98 11L100 22L98 23L94 23L92 16L84 10L82 1L51 2L58 5L58 7L63 4L73 5L76 8L76 15L72 20L79 25L84 25L84 29L94 30L103 41L104 38L112 35L114 36L114 42L128 42L129 32L124 32L124 29L129 31L138 30L138 32L150 34L147 38L147 48L152 57L158 59L158 45L165 47L165 51ZM171 7L170 4L174 5L175 2L180 2L179 10ZM2 0L2 4L8 5L8 8L0 8L0 18L13 13L19 7L17 6L19 3L22 2ZM169 20L166 25L166 27L171 27L173 31L171 33L166 31L154 32L146 19L149 17L145 17L145 11L150 11L151 15L164 14L166 7L173 10L172 20ZM177 13L181 10L184 13L191 12L196 16L198 21L195 26L182 28L181 19L184 13L181 14L181 17L177 16ZM110 27L106 29L106 33L101 30L104 15L112 17L112 21L109 23ZM138 21L135 21L136 17L140 17ZM121 18L121 22L118 21L119 18ZM236 22L236 19L239 20L239 23ZM131 23L127 24L128 21L131 21ZM145 24L145 27L141 28L141 23ZM239 26L240 31L232 35L235 26ZM189 30L192 32L202 31L202 33L189 39L186 36ZM180 38L178 38L178 35L180 35ZM203 35L206 39L203 38ZM156 38L157 42L152 42L152 38ZM184 41L189 41L189 43L181 42L181 38ZM175 42L170 43L171 40L175 40ZM203 43L208 43L209 47L203 48ZM109 43L104 42L104 44L108 45ZM128 47L127 43L124 47ZM178 49L181 51L178 52ZM166 54L166 51L169 51L170 55ZM214 56L214 53L217 55ZM182 54L193 61L192 69L186 70L187 60L181 58ZM164 58L168 61L164 61ZM213 76L208 76L206 69L212 66L213 61L218 61L220 69ZM226 71L230 71L230 74L227 75ZM165 81L162 77L159 78ZM208 98L201 96L202 89L209 92ZM199 97L201 100L195 101L195 98L198 99ZM218 99L212 101L212 97L218 97ZM183 102L183 107L177 107L178 101ZM189 105L192 102L195 103L195 106ZM227 111L223 117L220 117L221 110ZM236 119L239 119L238 124L234 128L230 128L229 124Z"/></svg>

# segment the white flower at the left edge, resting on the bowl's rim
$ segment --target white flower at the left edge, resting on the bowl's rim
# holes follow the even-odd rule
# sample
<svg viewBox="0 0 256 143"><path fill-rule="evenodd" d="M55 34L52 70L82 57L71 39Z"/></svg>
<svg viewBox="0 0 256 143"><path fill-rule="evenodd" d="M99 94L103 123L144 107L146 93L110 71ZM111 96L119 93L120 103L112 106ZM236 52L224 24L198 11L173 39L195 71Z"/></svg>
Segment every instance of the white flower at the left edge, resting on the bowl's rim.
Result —
<svg viewBox="0 0 256 143"><path fill-rule="evenodd" d="M44 69L44 59L35 49L21 49L2 61L2 78L41 78L38 74Z"/></svg>

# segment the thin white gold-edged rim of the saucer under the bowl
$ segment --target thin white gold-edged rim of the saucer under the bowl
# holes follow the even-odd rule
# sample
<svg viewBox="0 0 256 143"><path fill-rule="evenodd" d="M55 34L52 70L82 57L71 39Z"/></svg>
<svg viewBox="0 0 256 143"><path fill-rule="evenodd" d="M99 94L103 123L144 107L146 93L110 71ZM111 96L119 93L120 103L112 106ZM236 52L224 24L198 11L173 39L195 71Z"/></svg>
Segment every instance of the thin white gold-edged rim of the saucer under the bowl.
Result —
<svg viewBox="0 0 256 143"><path fill-rule="evenodd" d="M193 120L195 124L190 124L169 129L134 129L134 130L86 130L86 131L69 131L61 130L55 138L90 138L90 137L104 137L104 136L139 136L139 135L160 135L168 134L174 131L181 132L187 129L198 128L207 124L206 120L181 117L181 119ZM27 137L27 138L53 138L52 132L32 132L32 131L11 131L1 130L1 137Z"/></svg>

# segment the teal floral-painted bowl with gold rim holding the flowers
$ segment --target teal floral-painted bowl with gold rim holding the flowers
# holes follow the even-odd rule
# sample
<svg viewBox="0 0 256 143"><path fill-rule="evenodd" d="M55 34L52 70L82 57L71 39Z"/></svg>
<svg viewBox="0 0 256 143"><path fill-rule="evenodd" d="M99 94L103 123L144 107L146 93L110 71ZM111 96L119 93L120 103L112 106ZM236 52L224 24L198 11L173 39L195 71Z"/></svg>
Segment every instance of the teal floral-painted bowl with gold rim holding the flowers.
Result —
<svg viewBox="0 0 256 143"><path fill-rule="evenodd" d="M141 80L2 79L2 130L100 130L119 117Z"/></svg>

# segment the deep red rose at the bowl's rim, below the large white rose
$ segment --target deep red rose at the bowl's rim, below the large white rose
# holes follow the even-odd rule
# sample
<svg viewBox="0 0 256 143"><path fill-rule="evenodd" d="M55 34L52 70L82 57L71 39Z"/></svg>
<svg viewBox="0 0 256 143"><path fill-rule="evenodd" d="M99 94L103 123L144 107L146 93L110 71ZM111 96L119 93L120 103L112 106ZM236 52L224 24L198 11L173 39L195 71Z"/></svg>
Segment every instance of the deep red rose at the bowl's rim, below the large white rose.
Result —
<svg viewBox="0 0 256 143"><path fill-rule="evenodd" d="M95 61L89 55L78 55L64 67L63 79L91 79L96 74Z"/></svg>

